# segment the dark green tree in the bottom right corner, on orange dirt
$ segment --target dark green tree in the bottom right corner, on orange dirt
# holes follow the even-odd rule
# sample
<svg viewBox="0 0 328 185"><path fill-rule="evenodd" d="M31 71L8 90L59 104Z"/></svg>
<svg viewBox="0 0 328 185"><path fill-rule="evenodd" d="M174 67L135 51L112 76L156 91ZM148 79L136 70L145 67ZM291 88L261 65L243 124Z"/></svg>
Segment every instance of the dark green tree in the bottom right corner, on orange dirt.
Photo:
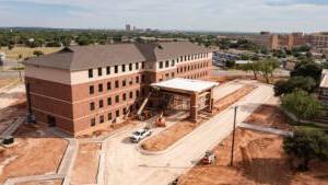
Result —
<svg viewBox="0 0 328 185"><path fill-rule="evenodd" d="M311 160L327 160L328 136L319 130L297 129L293 136L284 138L283 149L301 160L298 170L307 171Z"/></svg>

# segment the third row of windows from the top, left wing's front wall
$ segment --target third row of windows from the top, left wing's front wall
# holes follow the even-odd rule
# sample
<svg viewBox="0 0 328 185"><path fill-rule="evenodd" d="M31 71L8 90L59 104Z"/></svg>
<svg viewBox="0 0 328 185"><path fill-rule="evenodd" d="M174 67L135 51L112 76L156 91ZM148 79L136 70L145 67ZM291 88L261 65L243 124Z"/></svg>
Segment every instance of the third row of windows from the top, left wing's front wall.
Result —
<svg viewBox="0 0 328 185"><path fill-rule="evenodd" d="M128 97L129 95L129 97ZM140 91L137 90L136 91L136 99L139 97L140 95ZM141 91L141 95L144 95L144 89L142 89ZM120 100L127 101L127 99L132 100L133 99L133 91L130 91L129 93L122 93L121 99L119 95L115 95L115 103L119 103ZM112 97L107 97L107 105L110 106L113 104ZM104 100L99 100L98 101L98 108L103 108L104 107ZM90 103L90 111L95 111L95 102L91 102Z"/></svg>

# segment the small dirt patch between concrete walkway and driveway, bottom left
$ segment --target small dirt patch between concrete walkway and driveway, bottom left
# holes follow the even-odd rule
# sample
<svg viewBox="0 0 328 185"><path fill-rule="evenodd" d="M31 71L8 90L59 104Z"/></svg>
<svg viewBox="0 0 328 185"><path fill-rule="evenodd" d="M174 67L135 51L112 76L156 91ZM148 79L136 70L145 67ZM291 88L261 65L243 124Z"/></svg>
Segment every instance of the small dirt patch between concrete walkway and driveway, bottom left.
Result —
<svg viewBox="0 0 328 185"><path fill-rule="evenodd" d="M72 171L72 185L96 184L101 143L82 143Z"/></svg>

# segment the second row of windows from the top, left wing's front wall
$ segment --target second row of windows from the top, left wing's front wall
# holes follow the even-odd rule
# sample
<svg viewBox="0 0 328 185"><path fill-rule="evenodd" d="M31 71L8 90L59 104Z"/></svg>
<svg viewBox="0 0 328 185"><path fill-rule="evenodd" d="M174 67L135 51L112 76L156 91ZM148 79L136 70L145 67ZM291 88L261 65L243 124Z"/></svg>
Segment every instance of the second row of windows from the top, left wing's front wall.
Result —
<svg viewBox="0 0 328 185"><path fill-rule="evenodd" d="M141 76L141 83L144 83L144 76L142 74ZM134 79L134 83L140 83L140 78L139 78L139 76L137 76L136 77L136 79ZM133 79L130 79L129 80L129 85L132 85L133 84ZM119 89L119 88L125 88L125 86L127 86L128 85L128 82L127 82L127 79L124 79L124 80L121 80L121 81L119 81L119 80L115 80L115 82L114 82L114 88L115 89ZM109 91L109 90L112 90L112 82L107 82L107 91ZM103 92L104 91L104 85L103 85L103 83L98 83L98 92ZM90 85L89 86L89 93L90 94L94 94L94 92L95 92L95 88L94 88L94 85Z"/></svg>

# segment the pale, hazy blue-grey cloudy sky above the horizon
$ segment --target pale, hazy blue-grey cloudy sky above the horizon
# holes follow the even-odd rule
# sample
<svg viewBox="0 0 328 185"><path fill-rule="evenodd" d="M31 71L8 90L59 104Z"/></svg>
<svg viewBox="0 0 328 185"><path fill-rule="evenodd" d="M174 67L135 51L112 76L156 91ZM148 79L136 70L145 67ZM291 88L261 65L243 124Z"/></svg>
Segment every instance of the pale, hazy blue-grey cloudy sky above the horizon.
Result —
<svg viewBox="0 0 328 185"><path fill-rule="evenodd" d="M328 0L0 0L0 26L328 31Z"/></svg>

